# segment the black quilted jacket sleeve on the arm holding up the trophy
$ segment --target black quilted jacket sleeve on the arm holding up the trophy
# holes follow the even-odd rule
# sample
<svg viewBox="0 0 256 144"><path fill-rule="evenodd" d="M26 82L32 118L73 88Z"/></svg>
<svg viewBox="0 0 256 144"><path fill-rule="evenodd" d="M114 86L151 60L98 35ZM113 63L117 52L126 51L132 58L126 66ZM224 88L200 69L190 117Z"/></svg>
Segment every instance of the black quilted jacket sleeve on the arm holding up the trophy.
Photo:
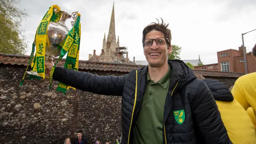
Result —
<svg viewBox="0 0 256 144"><path fill-rule="evenodd" d="M88 72L56 67L52 78L86 92L122 96L124 82L127 76L127 74L124 76L98 76Z"/></svg>

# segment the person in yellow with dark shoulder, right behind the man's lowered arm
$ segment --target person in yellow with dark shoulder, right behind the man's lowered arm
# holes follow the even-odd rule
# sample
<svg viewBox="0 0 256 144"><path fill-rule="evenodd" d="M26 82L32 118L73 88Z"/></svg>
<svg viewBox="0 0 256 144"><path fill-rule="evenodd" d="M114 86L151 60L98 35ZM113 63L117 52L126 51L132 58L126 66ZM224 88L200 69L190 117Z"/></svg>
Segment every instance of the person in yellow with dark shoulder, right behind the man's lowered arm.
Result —
<svg viewBox="0 0 256 144"><path fill-rule="evenodd" d="M217 80L203 79L212 92L228 136L233 144L256 144L256 131L244 108L234 100L230 90Z"/></svg>

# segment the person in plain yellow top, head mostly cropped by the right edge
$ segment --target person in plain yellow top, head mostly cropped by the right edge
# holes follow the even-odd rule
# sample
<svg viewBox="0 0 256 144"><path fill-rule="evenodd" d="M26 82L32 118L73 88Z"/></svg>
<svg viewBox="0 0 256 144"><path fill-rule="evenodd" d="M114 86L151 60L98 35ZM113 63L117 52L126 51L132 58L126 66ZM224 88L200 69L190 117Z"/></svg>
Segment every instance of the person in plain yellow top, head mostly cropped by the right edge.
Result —
<svg viewBox="0 0 256 144"><path fill-rule="evenodd" d="M252 55L256 59L256 44L252 48ZM252 107L256 117L256 72L240 76L231 92L245 110Z"/></svg>

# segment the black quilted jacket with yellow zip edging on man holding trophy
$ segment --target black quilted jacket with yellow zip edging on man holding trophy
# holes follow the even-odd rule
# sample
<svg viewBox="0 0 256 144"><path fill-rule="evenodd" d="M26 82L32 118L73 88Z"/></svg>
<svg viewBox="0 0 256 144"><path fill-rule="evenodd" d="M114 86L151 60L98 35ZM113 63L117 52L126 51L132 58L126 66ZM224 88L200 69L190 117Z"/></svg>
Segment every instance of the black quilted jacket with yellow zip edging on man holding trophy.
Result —
<svg viewBox="0 0 256 144"><path fill-rule="evenodd" d="M172 72L164 106L163 144L230 144L212 93L181 60L168 60ZM53 79L96 94L122 96L122 144L132 144L133 128L146 90L148 66L124 76L98 76L63 68ZM183 124L173 111L184 110Z"/></svg>

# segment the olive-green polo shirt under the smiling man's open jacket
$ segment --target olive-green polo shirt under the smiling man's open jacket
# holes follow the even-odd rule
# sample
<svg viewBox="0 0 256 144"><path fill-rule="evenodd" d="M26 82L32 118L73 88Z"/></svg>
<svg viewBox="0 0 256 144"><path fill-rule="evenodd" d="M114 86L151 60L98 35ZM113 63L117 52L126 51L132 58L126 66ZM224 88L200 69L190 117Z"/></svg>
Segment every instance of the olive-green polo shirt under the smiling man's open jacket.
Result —
<svg viewBox="0 0 256 144"><path fill-rule="evenodd" d="M140 114L134 126L133 144L162 144L164 104L170 84L171 70L158 82L147 78Z"/></svg>

